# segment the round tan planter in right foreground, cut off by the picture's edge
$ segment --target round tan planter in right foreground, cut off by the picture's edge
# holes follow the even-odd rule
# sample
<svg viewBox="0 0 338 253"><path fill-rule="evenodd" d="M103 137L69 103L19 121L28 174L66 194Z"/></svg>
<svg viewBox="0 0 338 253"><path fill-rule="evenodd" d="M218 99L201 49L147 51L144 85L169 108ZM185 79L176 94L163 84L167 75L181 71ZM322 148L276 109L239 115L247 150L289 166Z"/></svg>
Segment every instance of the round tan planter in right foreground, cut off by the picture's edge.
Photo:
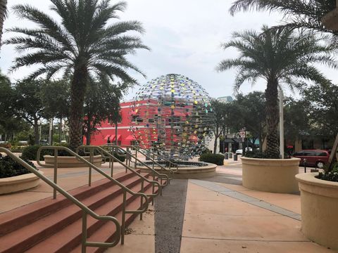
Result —
<svg viewBox="0 0 338 253"><path fill-rule="evenodd" d="M317 175L296 175L301 190L301 231L310 240L337 250L338 183L316 179Z"/></svg>

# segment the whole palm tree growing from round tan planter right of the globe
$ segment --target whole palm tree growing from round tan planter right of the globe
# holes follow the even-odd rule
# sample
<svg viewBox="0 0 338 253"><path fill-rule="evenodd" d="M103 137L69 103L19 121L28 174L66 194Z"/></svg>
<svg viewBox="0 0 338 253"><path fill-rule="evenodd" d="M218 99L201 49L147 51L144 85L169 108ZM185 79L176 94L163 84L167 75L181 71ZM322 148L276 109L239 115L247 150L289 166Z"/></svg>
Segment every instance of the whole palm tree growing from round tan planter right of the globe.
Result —
<svg viewBox="0 0 338 253"><path fill-rule="evenodd" d="M223 48L237 48L237 59L223 60L216 69L220 72L237 68L234 89L246 81L255 83L265 79L265 99L267 114L267 150L270 158L279 157L277 138L278 87L287 84L290 89L301 89L304 79L316 83L327 82L312 63L326 63L335 66L334 58L328 53L330 47L318 44L313 34L294 34L291 29L270 30L263 27L263 33L254 31L235 32L230 42Z"/></svg>

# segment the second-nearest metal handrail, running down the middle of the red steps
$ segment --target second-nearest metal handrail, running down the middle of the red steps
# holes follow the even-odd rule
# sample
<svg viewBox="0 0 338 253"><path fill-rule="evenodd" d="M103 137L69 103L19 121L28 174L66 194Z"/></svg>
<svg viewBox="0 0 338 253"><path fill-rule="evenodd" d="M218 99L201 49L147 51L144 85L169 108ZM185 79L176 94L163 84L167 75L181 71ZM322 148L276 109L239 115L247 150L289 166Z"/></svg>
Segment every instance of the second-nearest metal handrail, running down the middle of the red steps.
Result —
<svg viewBox="0 0 338 253"><path fill-rule="evenodd" d="M63 146L42 146L42 147L40 147L37 150L37 164L39 164L42 167L53 167L51 165L42 164L40 162L40 154L41 154L42 150L54 150L54 181L57 180L58 150L65 150L70 155L77 157L77 160L80 160L81 162L84 162L84 164L87 164L89 166L89 186L91 186L91 183L92 183L92 181L91 181L92 169L95 169L97 172L99 172L99 174L101 174L102 176L105 176L107 179L113 181L116 185L120 186L120 188L123 188L122 225L121 225L121 231L120 231L121 244L123 245L125 243L125 214L142 214L142 213L146 212L146 210L149 207L148 197L144 193L135 193L134 191L130 190L129 188L124 186L122 183L117 181L116 179L113 179L113 177L108 176L106 173L104 173L104 171L102 171L101 169L96 167L94 164L92 164L92 160L91 160L91 162L89 162L89 161L85 160L83 157L81 157L80 155L78 155L77 153L75 153L73 150L70 150L69 148L66 148L66 147L63 147ZM142 205L144 205L144 209L126 210L125 207L126 207L126 202L127 202L127 193L130 193L131 195L139 196L139 197L141 197L141 199L142 199L142 197L144 197L145 202L143 203L143 200L141 200L141 208L142 208ZM54 196L56 197L56 193L54 193Z"/></svg>

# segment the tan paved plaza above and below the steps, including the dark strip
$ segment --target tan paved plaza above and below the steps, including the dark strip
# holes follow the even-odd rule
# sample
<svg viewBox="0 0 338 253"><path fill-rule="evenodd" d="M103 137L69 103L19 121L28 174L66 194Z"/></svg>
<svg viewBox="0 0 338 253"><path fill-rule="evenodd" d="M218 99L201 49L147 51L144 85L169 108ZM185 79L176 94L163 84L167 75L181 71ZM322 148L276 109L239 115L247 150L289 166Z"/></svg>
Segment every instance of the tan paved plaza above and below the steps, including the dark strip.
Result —
<svg viewBox="0 0 338 253"><path fill-rule="evenodd" d="M106 165L103 168L108 171ZM52 178L52 169L42 171ZM121 171L122 167L115 167L114 174ZM59 169L58 181L70 190L84 185L87 173L87 168ZM99 179L101 175L94 173L93 181ZM51 192L42 183L27 192L2 195L0 212L50 197ZM165 212L165 206L171 211ZM132 223L125 245L106 252L334 252L305 238L300 214L299 195L248 190L242 186L241 162L228 160L212 178L172 181L163 189L163 196L158 196L155 205L149 207L144 219ZM173 247L158 247L156 242Z"/></svg>

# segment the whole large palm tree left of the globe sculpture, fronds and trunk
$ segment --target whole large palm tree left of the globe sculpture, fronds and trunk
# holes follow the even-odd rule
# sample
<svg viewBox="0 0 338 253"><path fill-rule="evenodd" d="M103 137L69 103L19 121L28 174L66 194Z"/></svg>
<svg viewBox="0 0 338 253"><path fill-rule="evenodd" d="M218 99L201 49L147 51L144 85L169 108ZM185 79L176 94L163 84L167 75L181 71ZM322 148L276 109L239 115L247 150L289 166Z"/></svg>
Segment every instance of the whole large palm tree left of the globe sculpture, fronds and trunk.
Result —
<svg viewBox="0 0 338 253"><path fill-rule="evenodd" d="M122 79L137 83L127 70L142 72L126 56L137 48L146 48L139 37L126 32L143 33L137 21L111 22L127 4L111 5L110 0L51 0L51 11L61 22L30 5L13 7L19 18L35 22L37 28L13 27L10 32L21 34L5 41L15 44L21 55L11 70L39 65L28 79L46 74L49 79L59 71L72 74L70 82L70 148L82 143L84 94L90 79ZM143 74L144 75L144 74Z"/></svg>

